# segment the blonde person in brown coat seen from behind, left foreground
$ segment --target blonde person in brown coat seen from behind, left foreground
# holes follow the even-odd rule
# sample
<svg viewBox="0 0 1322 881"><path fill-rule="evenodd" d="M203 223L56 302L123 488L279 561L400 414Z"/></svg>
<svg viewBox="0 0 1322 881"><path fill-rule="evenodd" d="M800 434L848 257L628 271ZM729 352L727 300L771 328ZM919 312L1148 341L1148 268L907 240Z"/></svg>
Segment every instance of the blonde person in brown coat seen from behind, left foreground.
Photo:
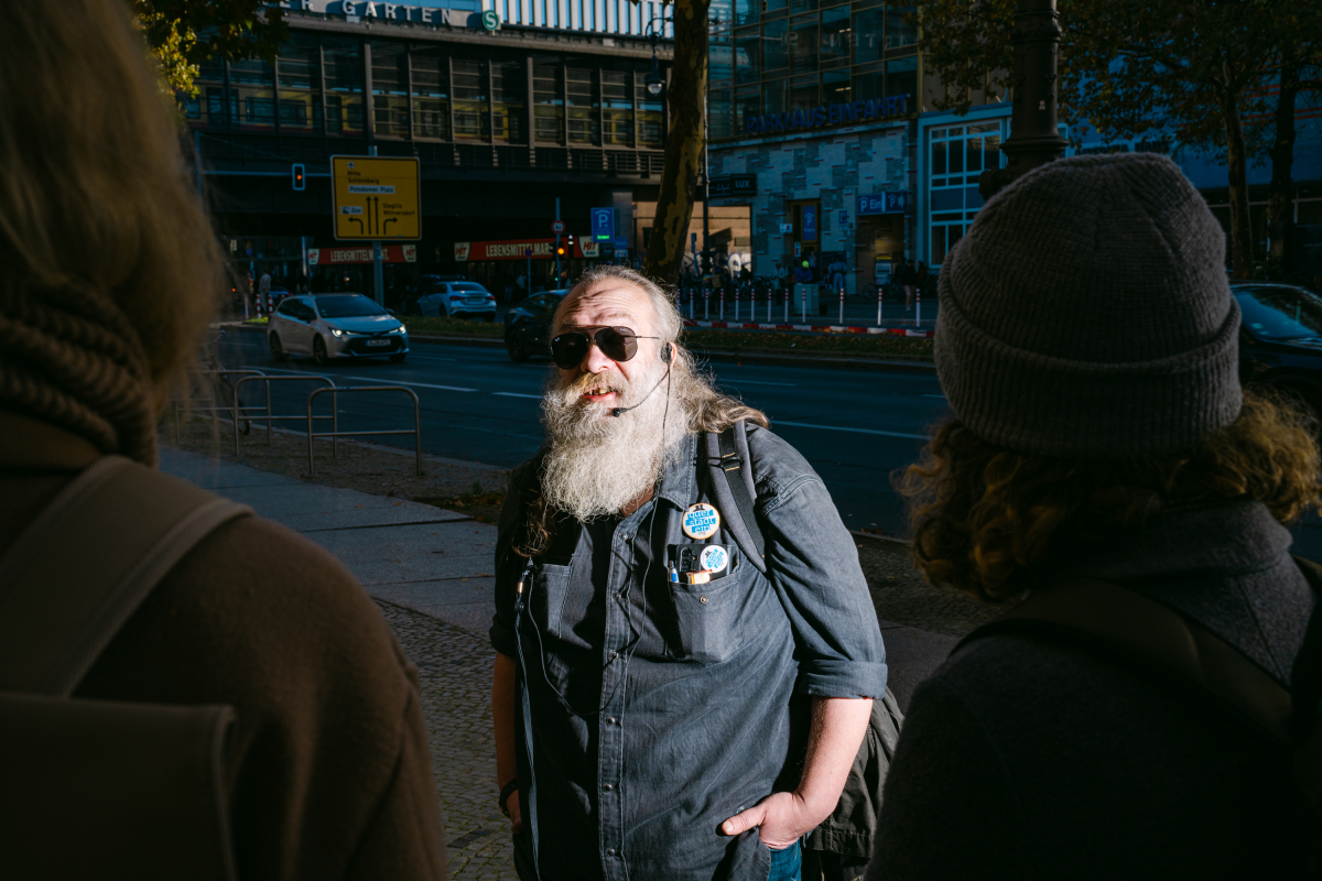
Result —
<svg viewBox="0 0 1322 881"><path fill-rule="evenodd" d="M233 855L226 877L440 880L444 839L418 675L375 605L320 547L156 472L157 420L229 288L180 153L173 102L147 58L119 0L21 5L0 28L0 593L12 598L16 567L45 579L42 594L21 608L7 602L0 618L7 633L13 616L45 633L75 614L70 597L85 585L58 573L70 560L93 577L102 563L123 563L115 522L132 531L159 491L229 511L210 531L188 520L197 531L180 534L182 547L205 538L159 580L131 572L145 590L131 597L140 605L123 606L118 629L103 630L108 643L90 646L90 668L69 684L67 705L164 705L161 715L176 716L217 705L233 715L227 741L214 742L218 791L172 766L161 770L177 803L151 814L159 806L139 796L165 785L134 779L118 808L130 822L213 816L217 853ZM30 547L44 518L78 510L66 490L110 472L139 494L106 530L59 536L66 559L16 551ZM7 641L3 691L13 691L15 667L25 663ZM15 719L0 724L9 736ZM176 740L165 746L182 748ZM104 770L119 767L110 744L98 746L115 766ZM50 818L70 852L104 860L104 829L61 823L86 804L54 803L83 781L54 767L46 800L13 802L12 765L28 761L5 757L5 816ZM13 835L7 820L7 877L71 877L50 868L66 855L46 855L45 870L15 865ZM143 853L140 874L102 861L81 877L161 877L157 859L175 856ZM214 864L169 870L221 877Z"/></svg>

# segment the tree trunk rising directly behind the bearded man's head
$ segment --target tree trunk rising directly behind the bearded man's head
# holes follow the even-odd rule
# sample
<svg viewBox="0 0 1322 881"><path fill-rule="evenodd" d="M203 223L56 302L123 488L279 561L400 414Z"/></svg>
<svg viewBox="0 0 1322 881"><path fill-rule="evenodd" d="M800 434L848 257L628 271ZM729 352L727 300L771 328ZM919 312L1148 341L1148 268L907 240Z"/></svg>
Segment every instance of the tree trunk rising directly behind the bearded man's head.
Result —
<svg viewBox="0 0 1322 881"><path fill-rule="evenodd" d="M693 218L693 193L706 145L707 9L711 0L676 0L674 70L670 77L670 133L657 195L657 215L642 273L666 284L680 279L680 264Z"/></svg>

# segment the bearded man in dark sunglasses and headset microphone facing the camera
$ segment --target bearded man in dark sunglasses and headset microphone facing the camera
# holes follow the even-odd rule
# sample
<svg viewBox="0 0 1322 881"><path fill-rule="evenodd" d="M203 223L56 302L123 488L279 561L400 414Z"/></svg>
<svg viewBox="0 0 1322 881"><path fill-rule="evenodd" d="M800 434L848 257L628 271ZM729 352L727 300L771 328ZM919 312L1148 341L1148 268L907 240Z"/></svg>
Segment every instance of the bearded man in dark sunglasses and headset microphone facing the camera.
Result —
<svg viewBox="0 0 1322 881"><path fill-rule="evenodd" d="M547 444L510 479L490 629L525 881L798 878L798 839L834 810L886 691L826 487L715 392L682 324L623 267L584 275L553 322ZM710 477L722 433L751 465L722 461L751 474L756 524ZM761 559L739 547L748 528Z"/></svg>

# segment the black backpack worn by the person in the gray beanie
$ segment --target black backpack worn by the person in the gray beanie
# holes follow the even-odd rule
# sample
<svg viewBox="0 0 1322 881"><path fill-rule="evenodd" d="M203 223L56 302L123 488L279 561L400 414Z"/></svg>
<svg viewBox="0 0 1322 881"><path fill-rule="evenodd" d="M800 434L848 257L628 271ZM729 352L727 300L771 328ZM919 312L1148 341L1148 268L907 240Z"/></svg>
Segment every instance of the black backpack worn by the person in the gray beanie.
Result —
<svg viewBox="0 0 1322 881"><path fill-rule="evenodd" d="M993 634L1079 645L1136 662L1257 729L1290 758L1301 794L1311 859L1322 878L1322 567L1296 557L1318 598L1290 672L1290 691L1237 649L1137 590L1096 579L1071 579L1032 594L964 637L961 646ZM952 651L952 654L953 654Z"/></svg>

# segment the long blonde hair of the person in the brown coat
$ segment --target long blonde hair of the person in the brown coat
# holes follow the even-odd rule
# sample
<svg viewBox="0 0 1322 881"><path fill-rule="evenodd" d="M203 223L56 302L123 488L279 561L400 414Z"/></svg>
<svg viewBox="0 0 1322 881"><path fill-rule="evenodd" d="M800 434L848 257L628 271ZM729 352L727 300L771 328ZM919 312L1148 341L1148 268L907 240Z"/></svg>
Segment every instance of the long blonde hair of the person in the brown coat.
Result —
<svg viewBox="0 0 1322 881"><path fill-rule="evenodd" d="M221 292L176 111L128 4L17 3L4 17L0 284L114 302L160 405Z"/></svg>

